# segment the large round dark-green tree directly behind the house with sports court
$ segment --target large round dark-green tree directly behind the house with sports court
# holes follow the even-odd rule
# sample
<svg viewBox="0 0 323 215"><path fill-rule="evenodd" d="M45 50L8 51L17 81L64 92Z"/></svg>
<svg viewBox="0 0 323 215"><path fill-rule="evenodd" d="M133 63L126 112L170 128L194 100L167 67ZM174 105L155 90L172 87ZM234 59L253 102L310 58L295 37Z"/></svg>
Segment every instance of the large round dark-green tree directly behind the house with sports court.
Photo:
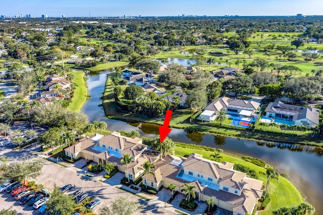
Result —
<svg viewBox="0 0 323 215"><path fill-rule="evenodd" d="M227 90L230 90L238 96L239 93L249 93L254 91L253 81L249 77L239 76L224 82Z"/></svg>

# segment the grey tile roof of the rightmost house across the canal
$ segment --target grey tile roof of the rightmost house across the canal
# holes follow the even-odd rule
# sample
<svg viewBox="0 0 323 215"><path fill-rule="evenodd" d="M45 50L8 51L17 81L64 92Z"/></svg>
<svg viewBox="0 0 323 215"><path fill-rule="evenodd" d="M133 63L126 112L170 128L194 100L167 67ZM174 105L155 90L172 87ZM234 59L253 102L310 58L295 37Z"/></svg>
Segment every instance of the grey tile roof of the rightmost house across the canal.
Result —
<svg viewBox="0 0 323 215"><path fill-rule="evenodd" d="M319 110L317 108L289 105L281 101L275 101L268 104L265 112L291 115L294 121L306 118L315 124L319 123Z"/></svg>

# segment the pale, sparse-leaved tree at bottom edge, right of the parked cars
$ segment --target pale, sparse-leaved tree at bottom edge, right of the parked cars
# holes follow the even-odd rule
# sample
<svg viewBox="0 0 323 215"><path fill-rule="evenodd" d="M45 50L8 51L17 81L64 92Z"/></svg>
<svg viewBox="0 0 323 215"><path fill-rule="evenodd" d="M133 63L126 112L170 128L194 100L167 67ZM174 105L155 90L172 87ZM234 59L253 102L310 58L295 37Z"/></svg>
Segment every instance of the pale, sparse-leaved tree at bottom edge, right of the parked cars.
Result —
<svg viewBox="0 0 323 215"><path fill-rule="evenodd" d="M129 201L125 197L119 197L112 202L111 209L103 207L99 215L132 215L139 205L135 201Z"/></svg>

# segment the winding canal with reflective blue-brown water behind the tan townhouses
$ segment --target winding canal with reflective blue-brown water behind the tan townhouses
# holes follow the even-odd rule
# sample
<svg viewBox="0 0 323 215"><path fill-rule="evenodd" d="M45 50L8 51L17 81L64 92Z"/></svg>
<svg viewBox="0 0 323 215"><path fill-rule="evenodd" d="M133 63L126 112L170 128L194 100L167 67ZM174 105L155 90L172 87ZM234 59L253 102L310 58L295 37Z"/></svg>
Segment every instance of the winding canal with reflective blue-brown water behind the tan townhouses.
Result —
<svg viewBox="0 0 323 215"><path fill-rule="evenodd" d="M98 74L88 74L87 85L91 98L84 104L82 112L89 116L89 120L105 121L107 130L138 130L141 136L156 137L158 126L148 123L127 123L113 120L104 116L100 97L104 90L106 74L102 71ZM252 156L266 161L279 173L290 175L290 181L306 196L316 209L315 214L323 214L323 161L322 150L319 148L297 146L289 144L259 143L253 140L223 137L220 135L187 133L181 129L172 129L169 137L174 141L188 144L199 144L207 147L216 147L224 151L242 156ZM279 141L279 140L277 140Z"/></svg>

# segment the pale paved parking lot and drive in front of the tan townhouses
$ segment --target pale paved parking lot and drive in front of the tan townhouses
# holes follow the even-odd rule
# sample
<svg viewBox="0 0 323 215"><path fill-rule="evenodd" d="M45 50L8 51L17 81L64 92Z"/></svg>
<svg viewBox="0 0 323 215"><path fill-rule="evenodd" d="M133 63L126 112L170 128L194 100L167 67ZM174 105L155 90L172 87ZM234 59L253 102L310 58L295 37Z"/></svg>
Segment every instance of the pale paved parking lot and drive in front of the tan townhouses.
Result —
<svg viewBox="0 0 323 215"><path fill-rule="evenodd" d="M114 185L120 182L120 178L124 175L117 173L113 176L110 185L101 181L96 181L94 178L84 176L83 171L75 167L62 167L52 162L46 161L42 168L42 174L35 180L37 184L43 184L47 189L52 190L54 184L59 188L66 184L72 184L76 186L76 189L82 189L83 192L89 196L98 198L101 200L101 204L94 208L94 212L98 213L100 208L103 206L109 206L112 201L120 196L127 197L129 200L137 201L141 204L141 208L135 214L174 214L167 210L167 208L159 208L155 204L149 201L145 201L137 198L131 193L125 192L121 189L116 188ZM33 180L33 179L30 179ZM74 192L75 189L71 189L67 194ZM0 194L0 210L3 208L9 208L13 206L13 209L18 211L18 214L38 214L38 210L33 210L32 206L23 205L20 206L18 201L15 201L11 194L1 193Z"/></svg>

